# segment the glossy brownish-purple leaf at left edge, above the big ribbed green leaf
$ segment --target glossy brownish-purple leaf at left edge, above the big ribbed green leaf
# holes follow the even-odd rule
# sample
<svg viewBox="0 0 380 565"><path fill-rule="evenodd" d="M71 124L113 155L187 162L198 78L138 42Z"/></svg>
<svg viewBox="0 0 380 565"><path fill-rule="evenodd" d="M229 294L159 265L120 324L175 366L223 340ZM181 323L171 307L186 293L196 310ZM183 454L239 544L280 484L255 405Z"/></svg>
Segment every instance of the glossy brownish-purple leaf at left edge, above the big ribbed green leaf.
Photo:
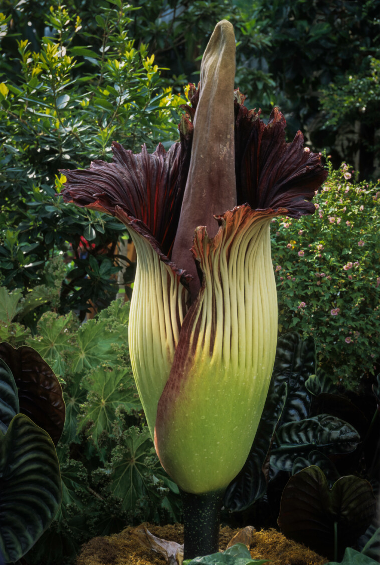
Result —
<svg viewBox="0 0 380 565"><path fill-rule="evenodd" d="M6 362L15 379L20 412L45 429L57 445L66 412L57 377L41 355L27 345L15 349L2 342L0 358Z"/></svg>

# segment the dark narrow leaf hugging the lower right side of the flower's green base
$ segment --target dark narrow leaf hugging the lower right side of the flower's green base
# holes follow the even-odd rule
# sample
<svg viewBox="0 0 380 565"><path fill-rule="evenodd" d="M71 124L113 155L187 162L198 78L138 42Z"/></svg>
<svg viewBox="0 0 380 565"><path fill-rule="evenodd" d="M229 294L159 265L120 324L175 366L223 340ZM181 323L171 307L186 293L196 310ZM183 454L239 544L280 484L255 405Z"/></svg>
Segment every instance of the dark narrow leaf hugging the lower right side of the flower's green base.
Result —
<svg viewBox="0 0 380 565"><path fill-rule="evenodd" d="M231 512L248 508L265 494L266 477L262 466L270 449L271 437L281 417L286 394L286 383L282 383L275 389L273 380L271 381L264 411L247 461L239 475L227 486L224 494L224 506Z"/></svg>

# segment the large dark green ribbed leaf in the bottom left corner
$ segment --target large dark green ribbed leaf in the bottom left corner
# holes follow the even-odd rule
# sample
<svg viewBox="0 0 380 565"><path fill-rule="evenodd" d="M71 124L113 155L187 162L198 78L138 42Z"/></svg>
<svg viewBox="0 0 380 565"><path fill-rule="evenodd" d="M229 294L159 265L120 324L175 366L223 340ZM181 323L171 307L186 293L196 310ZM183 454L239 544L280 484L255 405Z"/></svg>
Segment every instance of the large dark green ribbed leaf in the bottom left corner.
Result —
<svg viewBox="0 0 380 565"><path fill-rule="evenodd" d="M0 493L0 557L14 562L49 526L62 497L54 444L24 414L0 432Z"/></svg>

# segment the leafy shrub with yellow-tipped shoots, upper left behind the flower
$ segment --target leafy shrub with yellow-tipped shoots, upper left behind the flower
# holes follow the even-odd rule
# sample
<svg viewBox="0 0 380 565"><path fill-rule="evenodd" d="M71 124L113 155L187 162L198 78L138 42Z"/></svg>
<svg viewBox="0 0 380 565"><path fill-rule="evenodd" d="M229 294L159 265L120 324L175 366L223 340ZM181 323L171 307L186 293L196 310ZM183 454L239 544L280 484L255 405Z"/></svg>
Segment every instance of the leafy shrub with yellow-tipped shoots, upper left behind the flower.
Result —
<svg viewBox="0 0 380 565"><path fill-rule="evenodd" d="M110 159L114 140L133 150L141 142L149 149L170 145L178 137L175 108L185 99L163 82L148 46L132 40L132 6L103 2L88 27L74 6L53 0L31 15L43 21L40 35L27 11L18 6L12 13L12 29L11 16L2 15L0 280L23 293L50 288L44 267L62 253L58 304L49 294L41 303L84 315L89 300L104 307L115 295L114 254L124 228L99 212L63 205L55 194L64 181L58 169Z"/></svg>

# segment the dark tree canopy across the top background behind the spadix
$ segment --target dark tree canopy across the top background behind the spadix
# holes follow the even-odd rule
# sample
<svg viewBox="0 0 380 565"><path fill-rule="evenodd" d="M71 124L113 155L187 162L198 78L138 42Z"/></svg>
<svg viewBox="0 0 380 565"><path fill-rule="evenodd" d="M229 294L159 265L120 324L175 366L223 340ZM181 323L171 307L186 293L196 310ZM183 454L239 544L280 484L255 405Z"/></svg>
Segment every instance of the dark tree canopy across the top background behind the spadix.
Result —
<svg viewBox="0 0 380 565"><path fill-rule="evenodd" d="M17 70L18 34L38 50L42 36L56 33L46 21L51 3L4 0L2 9L11 15L11 33L2 41L7 74ZM177 92L197 82L215 23L229 19L238 42L236 85L247 106L261 107L265 118L278 105L290 137L301 129L314 150L331 153L334 165L346 159L362 179L378 175L379 0L132 0L124 6L122 0L67 0L84 32L72 37L72 46L100 52L105 34L98 26L110 5L128 10L124 32L137 48L149 45ZM88 58L82 63L88 66Z"/></svg>

